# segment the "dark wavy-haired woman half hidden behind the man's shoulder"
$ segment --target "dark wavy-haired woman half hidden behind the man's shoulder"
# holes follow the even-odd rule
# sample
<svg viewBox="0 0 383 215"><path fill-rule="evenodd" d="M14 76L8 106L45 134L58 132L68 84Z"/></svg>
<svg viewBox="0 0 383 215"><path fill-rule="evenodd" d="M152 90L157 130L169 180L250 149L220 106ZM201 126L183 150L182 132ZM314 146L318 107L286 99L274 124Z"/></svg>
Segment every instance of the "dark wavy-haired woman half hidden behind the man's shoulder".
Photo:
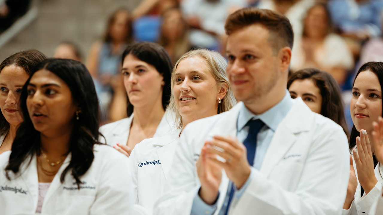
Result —
<svg viewBox="0 0 383 215"><path fill-rule="evenodd" d="M291 98L301 97L311 111L321 114L338 125L348 134L344 117L342 95L335 79L327 72L306 68L293 73L287 81Z"/></svg>

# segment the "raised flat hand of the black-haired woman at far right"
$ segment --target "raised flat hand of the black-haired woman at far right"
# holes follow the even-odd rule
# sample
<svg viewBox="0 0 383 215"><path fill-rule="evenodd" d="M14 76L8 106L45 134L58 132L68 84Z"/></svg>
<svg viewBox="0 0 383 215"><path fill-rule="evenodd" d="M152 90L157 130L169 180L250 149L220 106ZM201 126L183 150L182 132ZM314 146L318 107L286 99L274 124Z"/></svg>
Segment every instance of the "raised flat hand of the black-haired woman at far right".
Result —
<svg viewBox="0 0 383 215"><path fill-rule="evenodd" d="M360 130L360 137L356 138L356 142L357 148L353 150L353 155L357 166L358 180L368 194L375 187L378 179L375 177L374 160L366 130Z"/></svg>

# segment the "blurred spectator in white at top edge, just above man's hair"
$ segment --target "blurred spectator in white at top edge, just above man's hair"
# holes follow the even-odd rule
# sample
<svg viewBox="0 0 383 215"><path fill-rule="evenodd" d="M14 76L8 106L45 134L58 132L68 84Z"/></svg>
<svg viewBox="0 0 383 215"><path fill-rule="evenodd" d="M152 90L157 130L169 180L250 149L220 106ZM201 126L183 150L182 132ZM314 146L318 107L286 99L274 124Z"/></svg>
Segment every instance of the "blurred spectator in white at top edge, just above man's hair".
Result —
<svg viewBox="0 0 383 215"><path fill-rule="evenodd" d="M293 56L296 55L296 47L301 46L303 19L307 10L313 5L314 0L260 0L258 3L259 8L278 11L290 20L294 31Z"/></svg>

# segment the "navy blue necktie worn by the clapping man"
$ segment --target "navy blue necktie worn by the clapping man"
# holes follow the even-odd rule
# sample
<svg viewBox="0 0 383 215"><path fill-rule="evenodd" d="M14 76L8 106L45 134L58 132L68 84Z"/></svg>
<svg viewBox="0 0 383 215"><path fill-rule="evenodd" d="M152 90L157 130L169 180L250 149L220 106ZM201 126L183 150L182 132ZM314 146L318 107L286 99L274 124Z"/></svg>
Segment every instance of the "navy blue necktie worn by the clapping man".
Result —
<svg viewBox="0 0 383 215"><path fill-rule="evenodd" d="M247 135L243 144L245 145L246 150L247 150L247 161L249 161L250 166L253 166L254 157L255 157L255 149L257 148L258 132L262 129L262 127L265 124L260 119L255 119L255 120L250 120L249 122L247 122L246 125L249 126L249 134ZM234 186L236 186L236 185L234 183L232 183L228 207L226 208L225 215L227 215L229 212L230 202L231 202L233 195L234 195Z"/></svg>

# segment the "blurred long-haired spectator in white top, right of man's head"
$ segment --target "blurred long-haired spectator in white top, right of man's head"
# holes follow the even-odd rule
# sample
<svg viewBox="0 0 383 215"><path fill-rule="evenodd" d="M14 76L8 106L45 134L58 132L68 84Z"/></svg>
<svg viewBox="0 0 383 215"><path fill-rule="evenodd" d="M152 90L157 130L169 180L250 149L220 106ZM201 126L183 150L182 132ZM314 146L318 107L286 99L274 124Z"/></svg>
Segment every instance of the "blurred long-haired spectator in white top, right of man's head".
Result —
<svg viewBox="0 0 383 215"><path fill-rule="evenodd" d="M352 53L344 39L331 32L331 20L324 4L314 5L304 18L303 38L291 57L291 69L313 67L329 72L342 85L354 67Z"/></svg>

